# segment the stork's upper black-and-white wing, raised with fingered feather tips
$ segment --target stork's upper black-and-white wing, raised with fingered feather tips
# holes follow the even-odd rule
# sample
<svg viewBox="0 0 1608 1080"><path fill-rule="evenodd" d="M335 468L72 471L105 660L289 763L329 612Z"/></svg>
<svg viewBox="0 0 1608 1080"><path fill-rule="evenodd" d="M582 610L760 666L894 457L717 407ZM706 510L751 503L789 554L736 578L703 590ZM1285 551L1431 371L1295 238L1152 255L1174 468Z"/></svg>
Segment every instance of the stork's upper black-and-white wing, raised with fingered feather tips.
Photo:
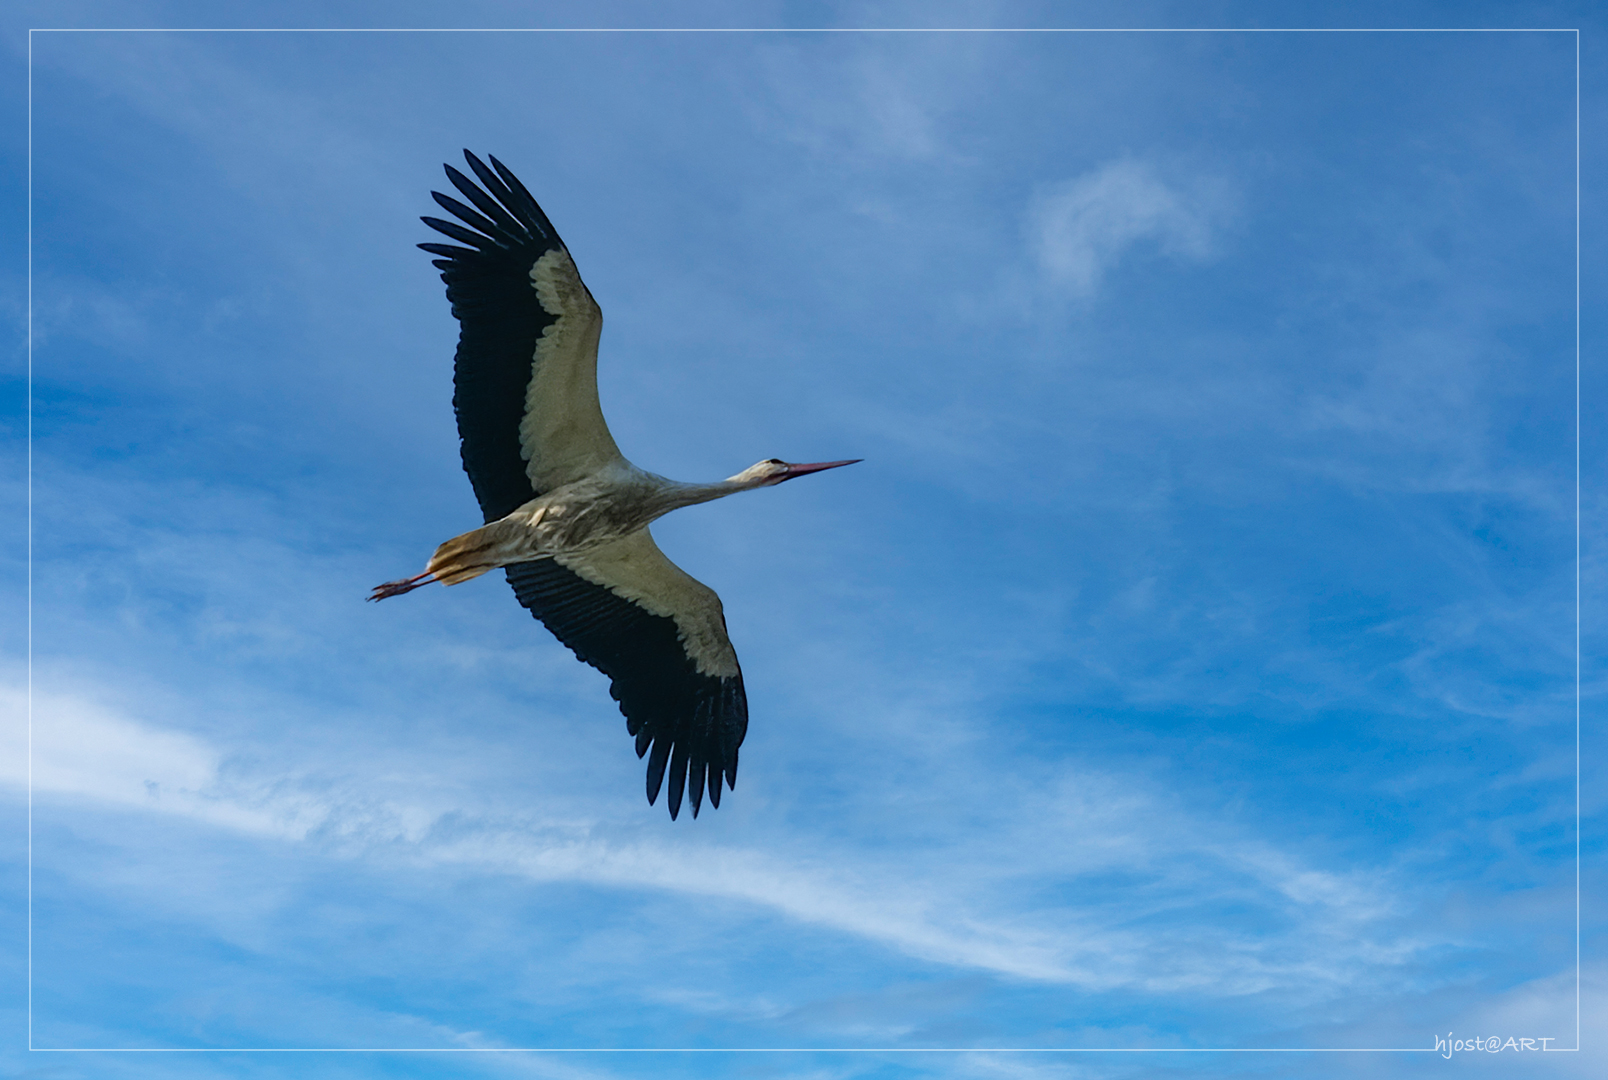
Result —
<svg viewBox="0 0 1608 1080"><path fill-rule="evenodd" d="M461 325L452 407L463 471L486 521L497 521L621 453L598 405L603 312L518 177L495 158L490 167L463 158L484 190L452 166L447 178L474 207L431 191L463 225L423 220L466 246L420 248L441 256Z"/></svg>

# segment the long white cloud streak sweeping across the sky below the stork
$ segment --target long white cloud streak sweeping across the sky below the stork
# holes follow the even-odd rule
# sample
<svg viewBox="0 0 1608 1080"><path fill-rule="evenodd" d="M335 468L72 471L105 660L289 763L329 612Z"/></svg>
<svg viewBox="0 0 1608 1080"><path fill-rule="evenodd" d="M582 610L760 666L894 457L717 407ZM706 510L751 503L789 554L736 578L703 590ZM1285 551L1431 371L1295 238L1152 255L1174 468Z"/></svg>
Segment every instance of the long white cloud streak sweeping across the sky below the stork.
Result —
<svg viewBox="0 0 1608 1080"><path fill-rule="evenodd" d="M5 704L16 717L23 693L8 688ZM714 897L923 961L1028 980L1249 993L1299 971L1307 980L1344 984L1360 966L1333 964L1325 950L1309 956L1309 945L1343 937L1356 953L1389 910L1378 881L1317 871L1222 823L1190 820L1132 776L1089 771L1047 791L1024 784L1010 816L987 823L987 837L960 836L942 852L889 858L868 850L828 853L798 836L780 850L695 839L666 844L585 816L465 812L449 791L428 786L399 796L357 776L331 784L248 773L225 765L206 741L119 715L93 694L47 688L35 691L34 709L40 794L188 816L379 865L400 860L437 871ZM24 760L19 730L18 722L8 725L11 762ZM13 765L3 779L19 786L26 771ZM1015 898L1024 879L1040 879L1037 892L1103 873L1137 876L1122 905L1073 910ZM1204 950L1187 924L1161 932L1127 927L1145 911L1177 914L1225 898L1270 905L1278 919L1299 927L1299 943L1257 935L1233 945L1225 959L1216 945L1235 935L1214 932L1214 948ZM1389 964L1413 950L1381 942L1367 951L1368 963Z"/></svg>

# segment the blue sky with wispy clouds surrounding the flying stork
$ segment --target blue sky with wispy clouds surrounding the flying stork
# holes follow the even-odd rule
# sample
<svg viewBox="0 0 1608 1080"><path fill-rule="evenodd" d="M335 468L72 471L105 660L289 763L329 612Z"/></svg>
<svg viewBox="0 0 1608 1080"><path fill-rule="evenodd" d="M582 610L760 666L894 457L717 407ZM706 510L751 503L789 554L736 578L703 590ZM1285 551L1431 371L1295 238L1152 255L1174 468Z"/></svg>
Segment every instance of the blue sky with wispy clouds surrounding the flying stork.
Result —
<svg viewBox="0 0 1608 1080"><path fill-rule="evenodd" d="M632 26L648 8L471 11ZM10 18L5 63L23 87L26 26L381 24L265 18L40 5ZM823 1051L1573 1045L1574 47L35 34L32 1043L798 1053L26 1053L16 614L0 1069L1394 1077L1444 1062ZM27 158L8 104L21 521ZM720 591L753 712L736 791L696 821L646 805L605 680L497 579L362 603L479 522L457 326L413 248L463 146L518 172L574 252L634 461L714 479L865 458L656 526ZM1590 191L1590 153L1584 169ZM1600 382L1587 363L1587 1033L1608 1000ZM21 527L6 559L21 612ZM1481 1067L1603 1064L1516 1056Z"/></svg>

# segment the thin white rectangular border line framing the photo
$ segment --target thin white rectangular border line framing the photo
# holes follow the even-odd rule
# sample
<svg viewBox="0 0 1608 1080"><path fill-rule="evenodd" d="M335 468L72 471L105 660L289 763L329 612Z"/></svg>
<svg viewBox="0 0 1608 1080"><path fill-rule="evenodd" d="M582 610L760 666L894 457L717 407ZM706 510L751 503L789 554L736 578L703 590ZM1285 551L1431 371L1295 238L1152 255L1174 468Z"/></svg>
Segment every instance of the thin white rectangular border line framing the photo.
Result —
<svg viewBox="0 0 1608 1080"><path fill-rule="evenodd" d="M1581 29L1579 27L29 27L27 31L27 1051L68 1054L1442 1054L1436 1046L34 1046L34 34L1573 34L1574 1046L1581 1051ZM1438 1040L1439 1041L1439 1040ZM1450 1033L1447 1035L1450 1043ZM1512 1040L1508 1040L1512 1041ZM1553 1040L1545 1040L1553 1041ZM1503 1043L1505 1045L1505 1043ZM1528 1048L1526 1048L1528 1049ZM1523 1049L1518 1053L1524 1053ZM1532 1051L1534 1053L1534 1051Z"/></svg>

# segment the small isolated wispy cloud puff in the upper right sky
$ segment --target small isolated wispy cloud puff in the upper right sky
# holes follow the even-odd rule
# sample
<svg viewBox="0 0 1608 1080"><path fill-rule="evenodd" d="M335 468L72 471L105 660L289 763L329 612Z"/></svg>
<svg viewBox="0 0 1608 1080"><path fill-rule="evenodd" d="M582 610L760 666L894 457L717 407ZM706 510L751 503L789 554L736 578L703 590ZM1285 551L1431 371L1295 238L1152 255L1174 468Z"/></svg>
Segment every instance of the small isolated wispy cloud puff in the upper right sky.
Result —
<svg viewBox="0 0 1608 1080"><path fill-rule="evenodd" d="M1055 284L1090 297L1137 244L1180 262L1208 259L1219 212L1201 190L1169 185L1153 166L1118 158L1039 191L1028 215L1029 243Z"/></svg>

